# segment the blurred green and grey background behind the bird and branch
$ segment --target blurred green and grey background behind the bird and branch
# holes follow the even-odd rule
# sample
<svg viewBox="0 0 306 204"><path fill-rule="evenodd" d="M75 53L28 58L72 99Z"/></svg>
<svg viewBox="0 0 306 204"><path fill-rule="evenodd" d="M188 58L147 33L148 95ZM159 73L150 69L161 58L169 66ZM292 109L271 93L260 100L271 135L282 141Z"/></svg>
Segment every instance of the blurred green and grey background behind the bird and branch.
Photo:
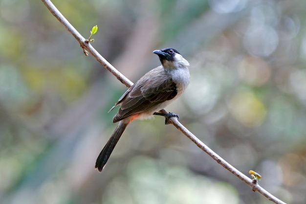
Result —
<svg viewBox="0 0 306 204"><path fill-rule="evenodd" d="M191 83L167 111L288 204L306 203L306 1L54 0L132 82L175 47ZM270 204L164 118L95 160L126 91L41 1L0 0L1 204Z"/></svg>

